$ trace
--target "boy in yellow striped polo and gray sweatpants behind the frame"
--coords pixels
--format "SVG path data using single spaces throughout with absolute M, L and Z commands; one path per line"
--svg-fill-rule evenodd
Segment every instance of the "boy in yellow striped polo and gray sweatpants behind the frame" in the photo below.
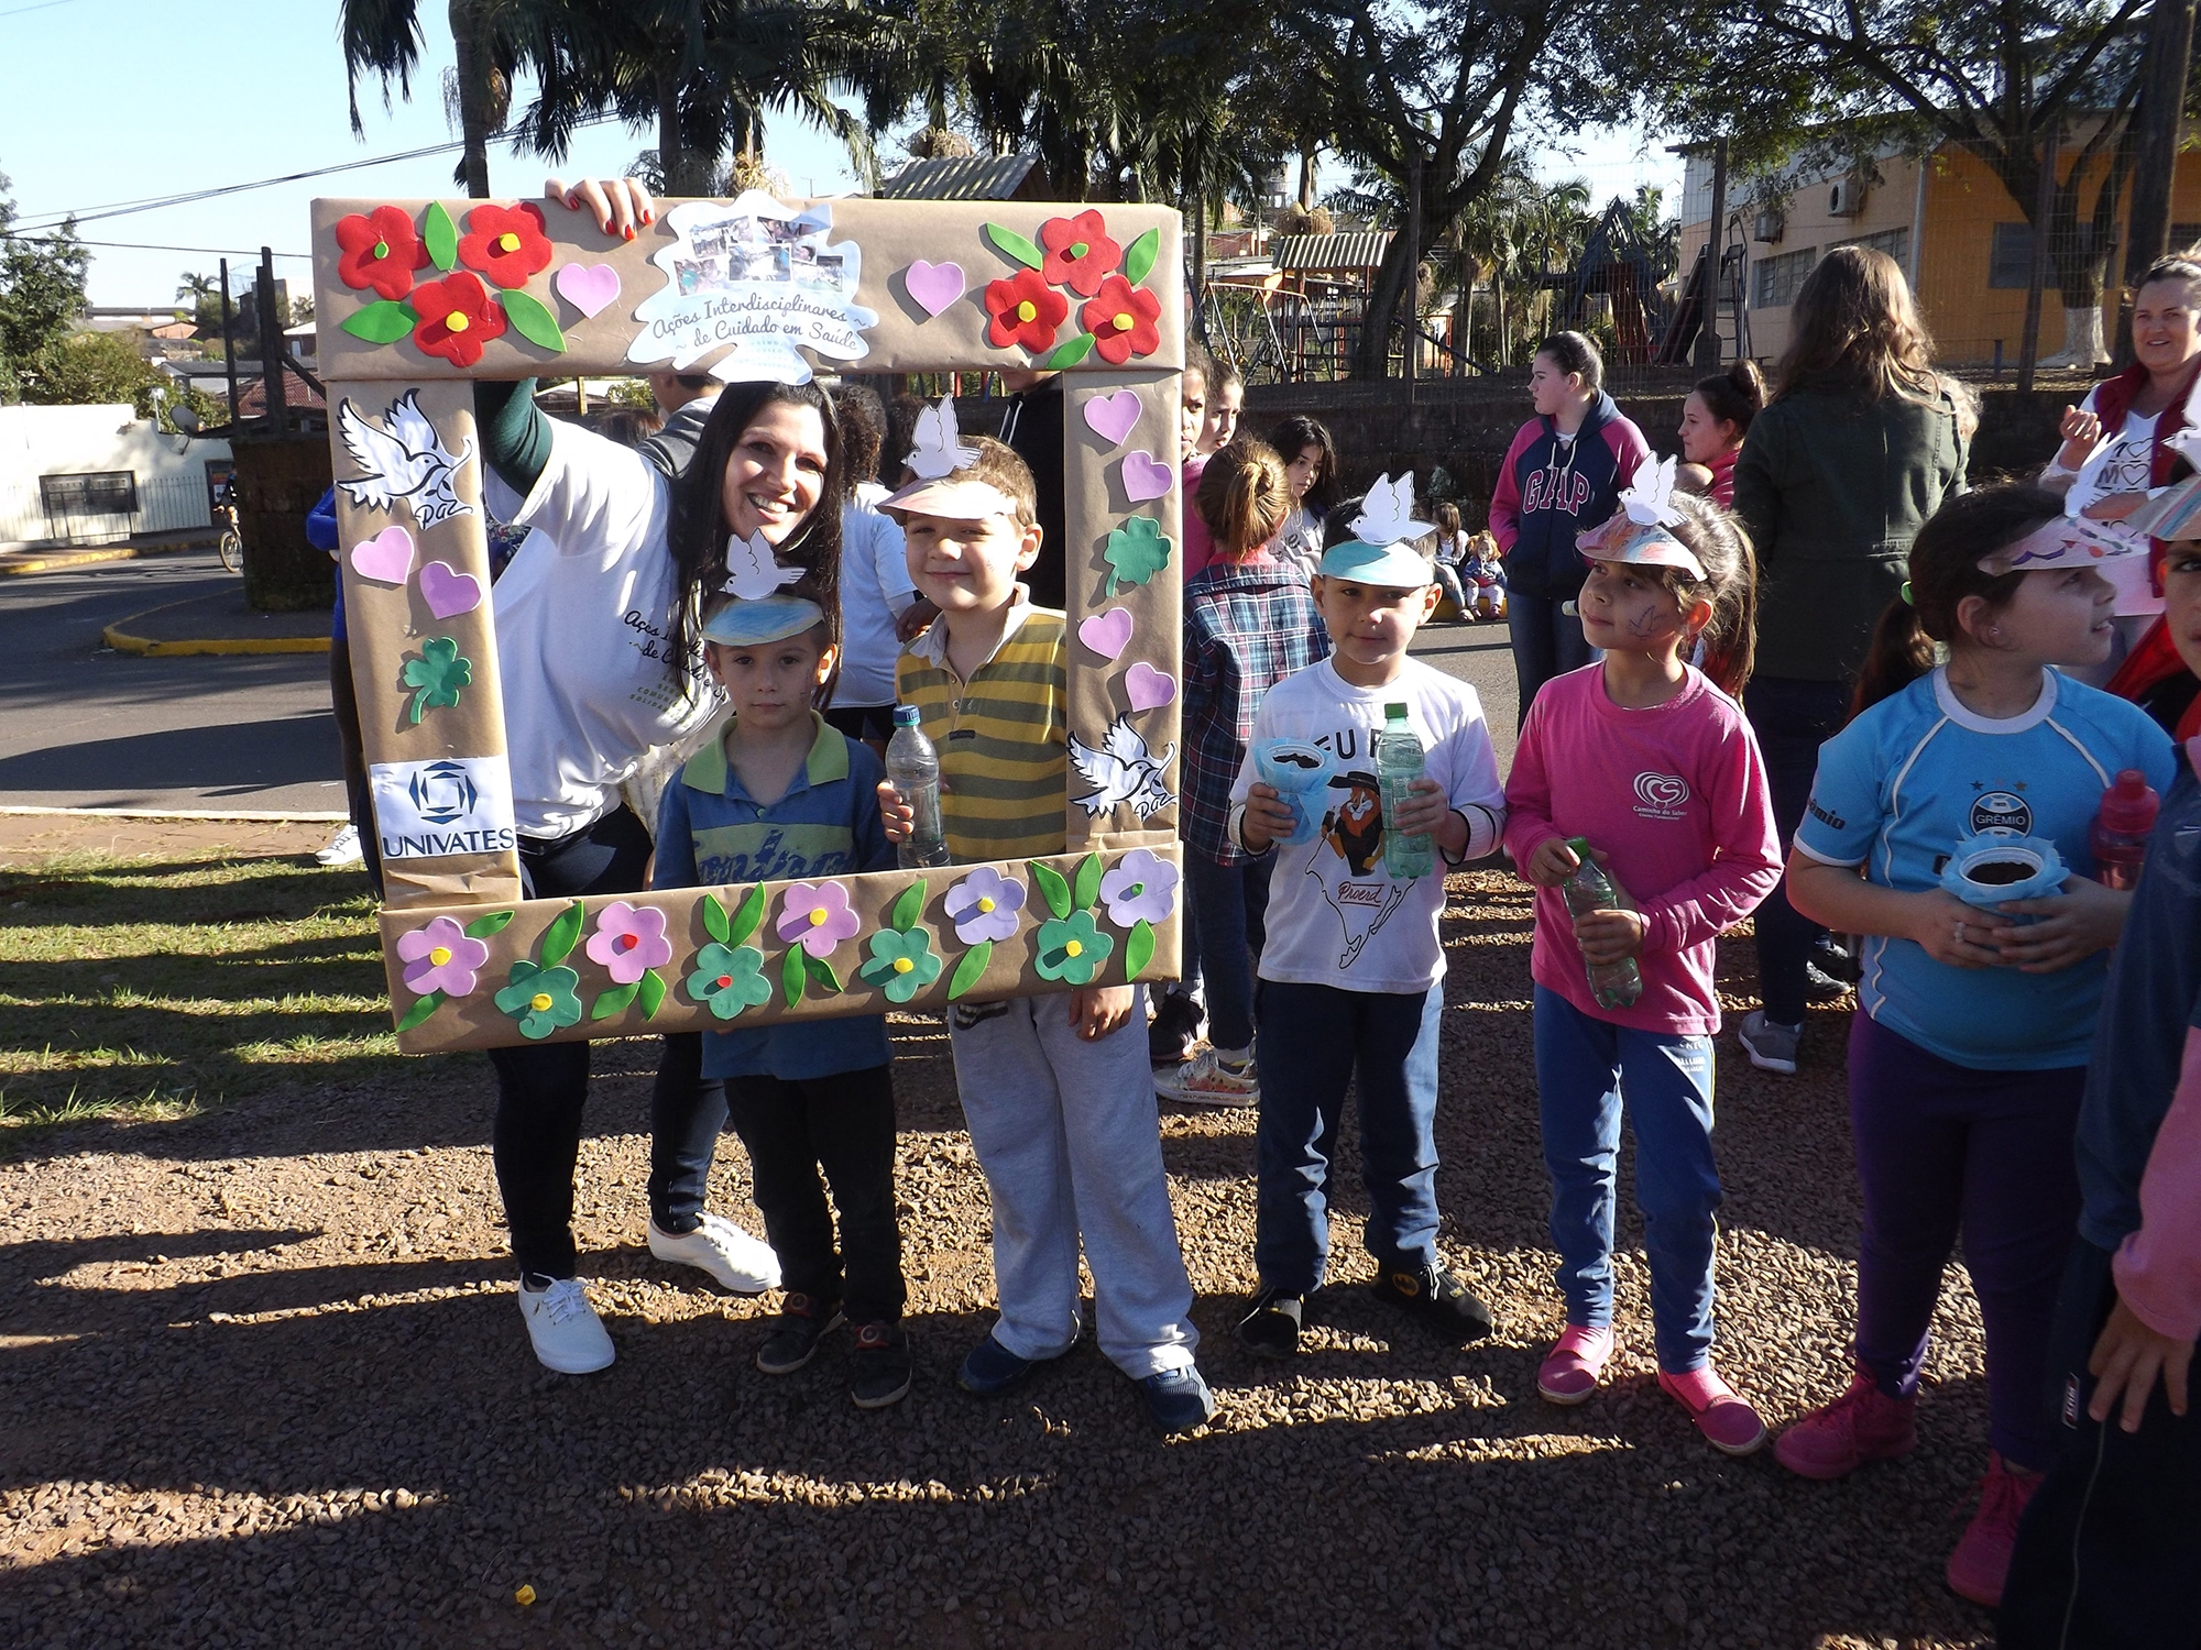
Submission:
M 1067 785 L 1063 616 L 1017 574 L 1039 557 L 1032 473 L 977 440 L 955 469 L 880 504 L 900 519 L 909 576 L 940 618 L 902 653 L 896 686 L 940 752 L 940 821 L 962 862 L 1061 854 Z M 889 840 L 911 812 L 878 788 Z M 1215 1415 L 1193 1346 L 1193 1285 L 1162 1170 L 1138 986 L 949 1010 L 955 1087 L 993 1199 L 1001 1318 L 957 1384 L 1006 1393 L 1078 1338 L 1078 1241 L 1100 1351 L 1140 1384 L 1164 1432 Z

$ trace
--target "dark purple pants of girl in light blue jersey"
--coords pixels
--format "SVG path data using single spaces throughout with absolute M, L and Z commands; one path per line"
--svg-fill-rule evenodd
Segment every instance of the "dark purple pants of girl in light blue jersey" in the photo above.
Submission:
M 1858 1014 L 1849 1120 L 1864 1184 L 1858 1362 L 1910 1397 L 1941 1267 L 1963 1263 L 1988 1324 L 1988 1439 L 2012 1465 L 2056 1461 L 2045 1371 L 2056 1287 L 2078 1232 L 2071 1135 L 2087 1067 L 1976 1071 Z

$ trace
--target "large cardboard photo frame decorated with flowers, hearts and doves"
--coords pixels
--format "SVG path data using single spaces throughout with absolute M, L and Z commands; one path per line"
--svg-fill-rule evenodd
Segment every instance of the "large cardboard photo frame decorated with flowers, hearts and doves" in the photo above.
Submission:
M 557 202 L 317 200 L 313 249 L 383 957 L 405 1052 L 938 1010 L 1178 975 L 1175 211 L 748 194 L 660 202 L 627 242 Z M 1065 854 L 519 898 L 469 381 L 698 363 L 788 383 L 1065 374 Z M 1123 779 L 1129 766 L 1136 783 Z

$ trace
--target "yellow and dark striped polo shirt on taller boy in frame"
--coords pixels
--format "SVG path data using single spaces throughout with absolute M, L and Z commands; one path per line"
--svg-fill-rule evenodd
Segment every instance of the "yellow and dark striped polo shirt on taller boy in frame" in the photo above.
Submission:
M 968 682 L 938 620 L 896 664 L 896 697 L 940 752 L 940 823 L 964 865 L 1030 860 L 1065 845 L 1070 700 L 1063 616 L 1019 598 Z

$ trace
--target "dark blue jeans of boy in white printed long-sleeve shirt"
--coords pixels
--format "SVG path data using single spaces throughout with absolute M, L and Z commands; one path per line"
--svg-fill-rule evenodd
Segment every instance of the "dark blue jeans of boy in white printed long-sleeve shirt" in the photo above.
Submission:
M 1261 981 L 1261 1126 L 1252 1258 L 1261 1285 L 1312 1294 L 1329 1256 L 1329 1164 L 1347 1087 L 1360 1096 L 1369 1254 L 1437 1263 L 1437 1021 L 1444 986 L 1347 992 Z M 1358 1074 L 1358 1082 L 1356 1082 Z

